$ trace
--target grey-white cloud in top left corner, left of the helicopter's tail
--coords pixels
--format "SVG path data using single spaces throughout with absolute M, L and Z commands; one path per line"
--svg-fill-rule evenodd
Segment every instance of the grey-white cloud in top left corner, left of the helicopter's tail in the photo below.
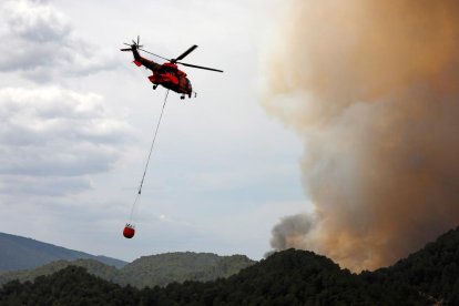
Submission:
M 43 1 L 0 4 L 0 71 L 35 82 L 88 75 L 116 65 L 114 51 L 75 38 L 70 20 Z

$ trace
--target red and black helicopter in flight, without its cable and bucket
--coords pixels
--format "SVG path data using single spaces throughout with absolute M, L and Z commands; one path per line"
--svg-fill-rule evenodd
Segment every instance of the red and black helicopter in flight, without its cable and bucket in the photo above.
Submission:
M 143 45 L 140 45 L 139 41 L 140 41 L 140 37 L 137 37 L 136 42 L 133 40 L 132 44 L 124 43 L 124 44 L 129 45 L 130 48 L 121 49 L 121 51 L 132 51 L 132 54 L 134 55 L 134 63 L 137 67 L 144 65 L 146 69 L 150 69 L 151 71 L 153 71 L 153 74 L 149 76 L 149 80 L 150 80 L 150 82 L 153 83 L 153 89 L 154 90 L 157 88 L 157 85 L 163 85 L 164 88 L 166 88 L 169 90 L 172 90 L 172 91 L 175 91 L 175 92 L 182 94 L 180 99 L 185 99 L 185 95 L 188 95 L 188 98 L 192 96 L 193 89 L 192 89 L 191 82 L 186 78 L 186 73 L 178 70 L 177 64 L 183 64 L 183 65 L 186 65 L 186 67 L 216 71 L 216 72 L 223 72 L 222 70 L 218 70 L 218 69 L 213 69 L 213 68 L 207 68 L 207 67 L 180 62 L 186 55 L 188 55 L 194 49 L 197 48 L 196 44 L 192 45 L 188 50 L 183 52 L 176 59 L 166 59 L 166 58 L 163 58 L 161 55 L 157 55 L 155 53 L 152 53 L 150 51 L 146 51 L 146 50 L 142 49 Z M 142 58 L 139 54 L 137 50 L 141 50 L 143 52 L 149 53 L 149 54 L 152 54 L 152 55 L 155 55 L 155 57 L 161 58 L 163 60 L 166 60 L 167 62 L 165 62 L 163 64 L 159 64 L 154 61 Z M 194 92 L 194 94 L 196 96 L 195 92 Z

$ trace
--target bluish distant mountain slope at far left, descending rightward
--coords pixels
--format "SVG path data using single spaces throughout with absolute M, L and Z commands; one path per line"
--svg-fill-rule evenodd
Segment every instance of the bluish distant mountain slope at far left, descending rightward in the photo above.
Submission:
M 110 266 L 123 267 L 126 262 L 42 243 L 32 238 L 0 233 L 0 272 L 30 269 L 50 262 L 91 258 Z

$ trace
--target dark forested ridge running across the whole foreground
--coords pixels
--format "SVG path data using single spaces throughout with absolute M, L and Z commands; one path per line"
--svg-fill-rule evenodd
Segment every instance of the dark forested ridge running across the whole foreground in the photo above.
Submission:
M 68 267 L 0 289 L 0 305 L 459 305 L 459 228 L 359 275 L 312 252 L 275 253 L 228 278 L 122 287 Z

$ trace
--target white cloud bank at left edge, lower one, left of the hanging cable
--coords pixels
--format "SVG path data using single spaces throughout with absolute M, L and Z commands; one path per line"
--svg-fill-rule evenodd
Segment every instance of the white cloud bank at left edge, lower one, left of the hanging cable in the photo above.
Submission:
M 84 175 L 110 171 L 131 133 L 101 96 L 57 86 L 0 89 L 0 119 L 1 190 L 23 181 L 39 194 L 88 188 Z

